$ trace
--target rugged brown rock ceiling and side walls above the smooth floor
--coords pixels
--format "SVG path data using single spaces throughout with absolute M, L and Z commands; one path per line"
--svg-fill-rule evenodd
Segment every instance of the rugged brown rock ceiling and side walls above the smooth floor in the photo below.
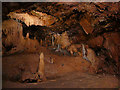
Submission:
M 48 44 L 51 43 L 49 32 L 59 33 L 62 38 L 55 41 L 55 44 L 59 44 L 63 49 L 74 44 L 86 44 L 93 50 L 94 55 L 102 58 L 103 71 L 107 72 L 104 66 L 108 66 L 107 68 L 114 66 L 118 70 L 115 69 L 110 73 L 119 73 L 120 2 L 41 2 L 21 6 L 22 9 L 21 4 L 17 3 L 15 5 L 18 5 L 18 8 L 13 11 L 9 9 L 9 3 L 3 4 L 3 7 L 6 5 L 8 10 L 4 11 L 2 24 L 3 53 L 17 52 L 25 42 L 35 44 L 36 41 L 26 40 L 22 36 L 22 33 L 27 32 L 22 28 L 33 27 L 28 32 L 43 46 L 45 44 L 49 46 Z M 33 30 L 35 27 L 37 30 Z M 36 46 L 32 45 L 32 47 Z M 71 54 L 77 51 L 77 49 L 68 50 Z

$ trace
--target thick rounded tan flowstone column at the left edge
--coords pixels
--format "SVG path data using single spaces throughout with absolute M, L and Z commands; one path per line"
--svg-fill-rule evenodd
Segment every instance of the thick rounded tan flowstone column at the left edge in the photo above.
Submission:
M 4 21 L 2 23 L 2 36 L 3 54 L 5 52 L 15 53 L 23 48 L 24 37 L 22 36 L 21 23 L 12 19 Z M 7 48 L 9 49 L 7 50 Z

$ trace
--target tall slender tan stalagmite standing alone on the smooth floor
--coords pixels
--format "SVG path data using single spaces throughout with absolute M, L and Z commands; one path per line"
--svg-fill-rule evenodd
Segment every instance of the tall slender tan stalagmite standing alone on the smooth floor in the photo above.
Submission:
M 45 64 L 44 64 L 44 54 L 40 54 L 40 61 L 39 61 L 39 66 L 38 66 L 38 75 L 40 76 L 40 79 L 43 81 L 46 80 L 45 77 Z

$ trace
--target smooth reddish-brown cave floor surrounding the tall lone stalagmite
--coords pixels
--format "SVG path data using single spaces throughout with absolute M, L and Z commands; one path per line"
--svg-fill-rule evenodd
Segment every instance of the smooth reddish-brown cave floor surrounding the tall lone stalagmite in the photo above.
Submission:
M 3 88 L 117 88 L 118 78 L 109 74 L 90 74 L 90 63 L 81 57 L 54 54 L 45 47 L 40 49 L 45 56 L 47 81 L 20 83 L 15 81 L 25 72 L 35 73 L 39 53 L 21 53 L 2 58 Z M 50 63 L 50 58 L 54 63 Z M 28 76 L 29 77 L 29 76 Z

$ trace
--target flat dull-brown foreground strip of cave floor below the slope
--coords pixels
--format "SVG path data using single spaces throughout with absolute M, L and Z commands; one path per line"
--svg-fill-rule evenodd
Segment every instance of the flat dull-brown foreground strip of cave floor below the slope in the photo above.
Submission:
M 19 83 L 5 81 L 3 88 L 117 88 L 115 77 L 107 75 L 89 75 L 71 72 L 64 76 L 40 83 Z

